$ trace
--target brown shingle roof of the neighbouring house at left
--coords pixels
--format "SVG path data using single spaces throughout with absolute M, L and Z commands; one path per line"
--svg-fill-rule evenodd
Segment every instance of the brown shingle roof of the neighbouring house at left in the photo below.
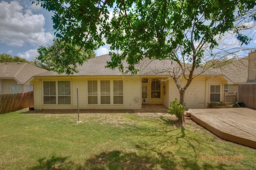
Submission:
M 48 72 L 26 62 L 0 62 L 0 78 L 14 78 L 19 84 L 24 84 L 32 76 Z

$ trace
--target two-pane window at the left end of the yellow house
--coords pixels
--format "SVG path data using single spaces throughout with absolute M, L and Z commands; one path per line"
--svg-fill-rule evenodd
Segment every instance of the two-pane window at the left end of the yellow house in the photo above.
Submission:
M 44 81 L 43 86 L 44 104 L 71 104 L 70 81 L 57 81 L 57 86 L 56 81 Z

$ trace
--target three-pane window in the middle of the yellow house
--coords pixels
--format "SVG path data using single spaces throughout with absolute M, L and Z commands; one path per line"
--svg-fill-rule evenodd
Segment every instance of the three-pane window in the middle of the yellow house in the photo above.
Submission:
M 123 80 L 88 80 L 88 104 L 123 103 Z

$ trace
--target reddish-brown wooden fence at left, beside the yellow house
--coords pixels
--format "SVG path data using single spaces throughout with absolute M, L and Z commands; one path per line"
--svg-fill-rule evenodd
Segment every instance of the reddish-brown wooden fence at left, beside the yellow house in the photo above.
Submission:
M 0 94 L 0 114 L 34 106 L 34 93 Z

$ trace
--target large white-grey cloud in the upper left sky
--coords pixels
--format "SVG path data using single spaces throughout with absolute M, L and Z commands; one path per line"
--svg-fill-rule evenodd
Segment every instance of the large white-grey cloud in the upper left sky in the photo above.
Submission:
M 17 1 L 0 2 L 0 43 L 21 47 L 25 43 L 46 44 L 54 35 L 45 32 L 45 18 L 42 14 L 32 14 Z

